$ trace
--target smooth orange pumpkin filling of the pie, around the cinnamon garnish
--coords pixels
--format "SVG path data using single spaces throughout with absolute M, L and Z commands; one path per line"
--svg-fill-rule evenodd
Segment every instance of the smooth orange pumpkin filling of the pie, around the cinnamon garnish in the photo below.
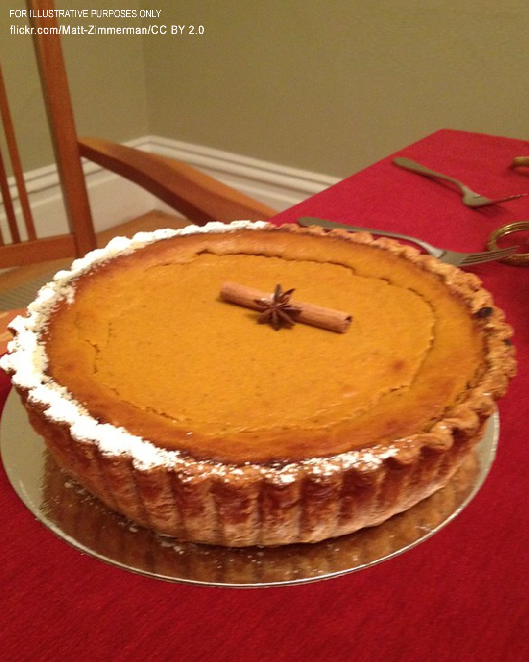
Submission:
M 263 254 L 262 234 L 257 254 L 224 237 L 206 250 L 180 238 L 156 263 L 145 250 L 101 267 L 50 324 L 52 377 L 99 420 L 235 463 L 387 443 L 428 430 L 462 397 L 483 339 L 433 276 L 414 278 L 384 251 L 382 275 L 371 273 L 362 257 L 372 249 L 361 244 L 342 257 L 310 246 Z M 222 301 L 224 281 L 295 287 L 296 298 L 350 312 L 352 323 L 344 334 L 275 331 Z

